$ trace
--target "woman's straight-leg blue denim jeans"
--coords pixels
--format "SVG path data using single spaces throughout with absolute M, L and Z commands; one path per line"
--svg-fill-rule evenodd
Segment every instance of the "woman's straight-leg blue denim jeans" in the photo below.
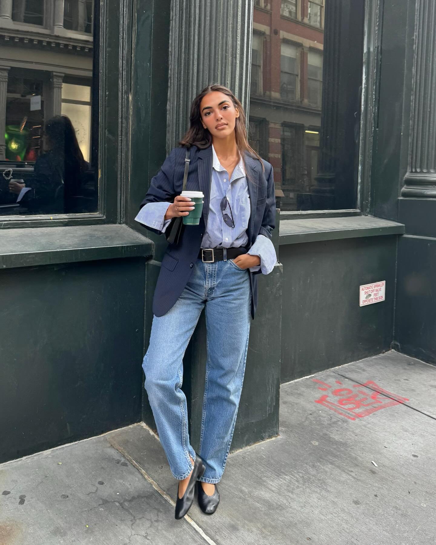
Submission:
M 153 316 L 142 368 L 159 439 L 175 479 L 189 476 L 196 453 L 189 442 L 183 355 L 205 307 L 207 366 L 199 455 L 200 481 L 220 482 L 233 438 L 250 334 L 248 270 L 232 260 L 197 259 L 179 299 L 164 316 Z

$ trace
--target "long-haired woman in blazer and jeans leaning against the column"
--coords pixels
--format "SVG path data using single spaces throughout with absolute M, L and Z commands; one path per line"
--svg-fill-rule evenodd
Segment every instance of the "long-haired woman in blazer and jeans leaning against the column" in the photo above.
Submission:
M 198 226 L 184 226 L 162 259 L 153 299 L 145 387 L 169 467 L 179 481 L 175 518 L 198 502 L 207 514 L 219 503 L 243 385 L 257 274 L 276 263 L 272 167 L 249 146 L 246 119 L 233 93 L 212 84 L 192 102 L 190 128 L 152 179 L 136 220 L 155 233 L 193 209 L 181 197 L 186 148 L 187 187 L 203 191 Z M 183 355 L 205 308 L 208 360 L 199 453 L 189 443 Z

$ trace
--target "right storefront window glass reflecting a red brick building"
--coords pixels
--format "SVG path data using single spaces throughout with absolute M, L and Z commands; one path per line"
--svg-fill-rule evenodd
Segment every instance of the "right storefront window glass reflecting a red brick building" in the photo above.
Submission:
M 249 137 L 274 168 L 277 207 L 355 208 L 365 2 L 281 0 L 271 10 L 268 26 L 253 9 Z

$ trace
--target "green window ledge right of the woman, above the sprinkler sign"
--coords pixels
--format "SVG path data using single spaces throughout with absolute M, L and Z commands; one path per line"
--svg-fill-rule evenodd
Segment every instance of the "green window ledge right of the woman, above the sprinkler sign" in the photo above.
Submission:
M 373 216 L 324 217 L 281 220 L 279 244 L 299 244 L 321 240 L 401 235 L 402 223 Z

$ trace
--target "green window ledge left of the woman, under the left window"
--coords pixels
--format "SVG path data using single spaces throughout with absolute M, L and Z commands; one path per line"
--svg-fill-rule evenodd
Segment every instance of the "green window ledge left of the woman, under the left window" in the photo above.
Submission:
M 0 269 L 119 257 L 151 257 L 153 242 L 125 225 L 2 231 Z

